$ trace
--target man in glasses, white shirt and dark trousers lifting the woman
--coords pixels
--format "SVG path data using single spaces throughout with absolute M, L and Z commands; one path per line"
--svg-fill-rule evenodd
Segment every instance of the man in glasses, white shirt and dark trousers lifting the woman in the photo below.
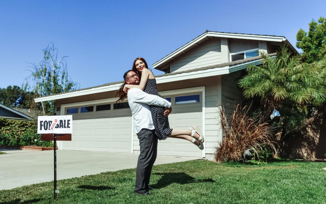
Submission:
M 126 71 L 124 79 L 127 84 L 139 85 L 140 83 L 138 75 L 131 70 Z M 171 103 L 158 96 L 147 94 L 139 88 L 129 89 L 127 96 L 140 145 L 134 192 L 149 195 L 148 190 L 152 188 L 148 184 L 157 155 L 157 136 L 149 105 L 166 107 L 164 116 L 168 116 L 172 110 Z

